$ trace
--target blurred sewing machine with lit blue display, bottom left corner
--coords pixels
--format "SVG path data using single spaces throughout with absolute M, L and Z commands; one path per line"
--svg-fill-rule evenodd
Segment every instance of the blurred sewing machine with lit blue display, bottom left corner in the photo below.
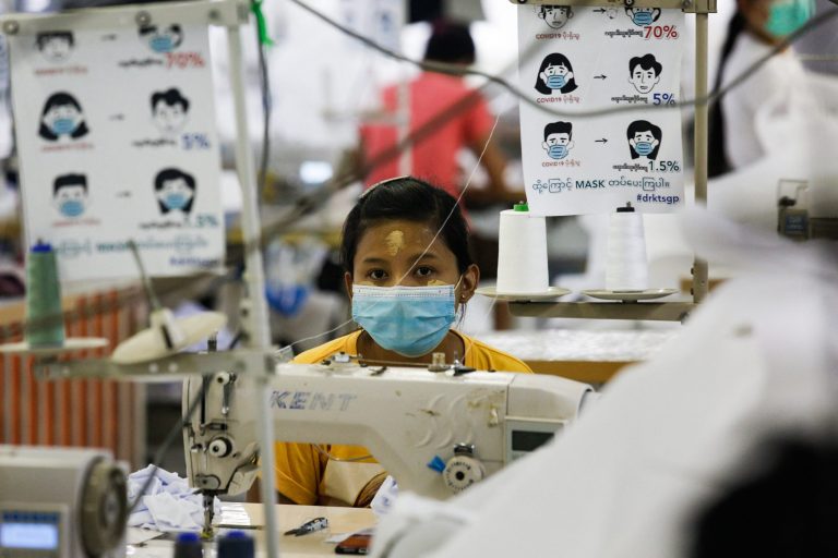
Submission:
M 125 556 L 125 473 L 109 452 L 0 446 L 0 556 Z

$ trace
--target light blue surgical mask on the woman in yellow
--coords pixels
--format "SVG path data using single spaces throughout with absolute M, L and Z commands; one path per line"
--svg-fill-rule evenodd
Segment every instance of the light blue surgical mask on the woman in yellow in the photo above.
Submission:
M 439 345 L 454 323 L 454 286 L 352 286 L 352 319 L 382 349 L 408 357 Z

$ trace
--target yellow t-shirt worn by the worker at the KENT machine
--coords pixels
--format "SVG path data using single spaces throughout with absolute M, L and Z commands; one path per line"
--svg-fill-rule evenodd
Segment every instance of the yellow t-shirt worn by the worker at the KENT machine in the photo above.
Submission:
M 532 373 L 518 359 L 486 343 L 454 331 L 466 347 L 465 365 L 479 371 Z M 340 337 L 298 355 L 294 362 L 314 364 L 337 352 L 357 354 L 361 330 Z M 323 445 L 320 447 L 335 458 L 358 459 L 369 456 L 361 446 Z M 364 505 L 371 481 L 383 480 L 384 469 L 371 457 L 358 461 L 335 461 L 318 451 L 312 444 L 276 442 L 276 489 L 301 505 L 354 506 Z M 359 501 L 359 496 L 363 495 Z

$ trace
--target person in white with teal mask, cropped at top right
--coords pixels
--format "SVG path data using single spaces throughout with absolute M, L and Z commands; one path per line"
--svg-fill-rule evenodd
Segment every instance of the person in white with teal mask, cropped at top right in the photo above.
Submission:
M 762 59 L 814 14 L 814 0 L 737 0 L 728 26 L 715 88 L 725 87 Z M 757 135 L 757 111 L 767 101 L 782 102 L 794 87 L 804 87 L 804 70 L 786 50 L 767 61 L 742 85 L 710 108 L 709 177 L 756 162 L 765 156 Z

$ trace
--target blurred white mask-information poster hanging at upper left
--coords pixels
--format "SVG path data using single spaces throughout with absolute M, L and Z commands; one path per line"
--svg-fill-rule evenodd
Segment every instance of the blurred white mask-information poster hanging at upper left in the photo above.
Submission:
M 64 281 L 224 263 L 207 29 L 160 23 L 9 36 L 26 241 Z

